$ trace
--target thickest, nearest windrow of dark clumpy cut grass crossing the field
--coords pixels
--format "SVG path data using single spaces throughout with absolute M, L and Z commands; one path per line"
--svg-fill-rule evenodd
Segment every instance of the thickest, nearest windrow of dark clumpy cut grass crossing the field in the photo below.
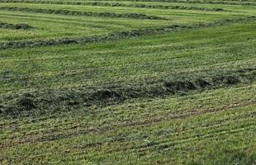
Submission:
M 29 92 L 0 99 L 0 114 L 17 117 L 24 114 L 65 111 L 79 106 L 107 106 L 134 98 L 165 97 L 180 92 L 229 87 L 239 82 L 255 82 L 255 80 L 256 68 L 252 68 L 244 72 L 237 70 L 234 73 L 221 73 L 209 78 L 166 79 L 145 85 Z

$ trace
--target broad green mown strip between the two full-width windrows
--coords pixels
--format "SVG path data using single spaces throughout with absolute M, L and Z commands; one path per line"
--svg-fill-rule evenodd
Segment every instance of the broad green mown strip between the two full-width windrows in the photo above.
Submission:
M 2 50 L 0 91 L 19 91 L 24 87 L 29 91 L 29 88 L 44 88 L 42 85 L 92 87 L 92 84 L 131 80 L 145 82 L 142 79 L 161 79 L 175 74 L 186 77 L 200 71 L 209 74 L 215 70 L 224 72 L 227 68 L 255 68 L 254 27 L 254 22 L 237 23 L 149 35 L 129 43 L 126 39 L 89 45 Z M 225 28 L 230 29 L 229 35 Z M 13 81 L 15 78 L 19 78 L 18 81 Z

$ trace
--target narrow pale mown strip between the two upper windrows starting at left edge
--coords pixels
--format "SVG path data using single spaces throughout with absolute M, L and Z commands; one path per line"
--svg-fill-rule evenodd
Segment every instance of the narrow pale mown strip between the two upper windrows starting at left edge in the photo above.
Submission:
M 133 4 L 133 3 L 124 3 L 124 4 Z M 75 12 L 114 12 L 116 14 L 125 14 L 125 13 L 137 13 L 137 14 L 145 14 L 149 16 L 159 16 L 167 19 L 173 19 L 173 15 L 199 15 L 204 16 L 220 16 L 219 18 L 223 18 L 223 16 L 243 16 L 244 13 L 236 13 L 236 12 L 215 12 L 215 11 L 190 11 L 190 10 L 162 10 L 158 8 L 137 8 L 137 7 L 104 7 L 104 6 L 81 6 L 81 5 L 58 5 L 58 4 L 40 4 L 40 3 L 0 3 L 0 7 L 17 7 L 17 8 L 31 8 L 31 9 L 50 9 L 50 10 L 67 10 L 67 11 L 75 11 Z

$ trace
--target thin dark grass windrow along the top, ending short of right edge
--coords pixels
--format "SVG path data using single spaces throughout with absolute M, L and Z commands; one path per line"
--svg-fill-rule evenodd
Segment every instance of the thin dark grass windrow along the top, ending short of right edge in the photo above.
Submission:
M 158 8 L 158 9 L 175 9 L 175 10 L 228 12 L 225 9 L 220 8 L 220 7 L 218 7 L 218 8 L 185 7 L 185 6 L 148 5 L 148 4 L 126 4 L 126 3 L 119 3 L 119 2 L 64 2 L 64 1 L 29 1 L 29 0 L 4 0 L 2 2 L 65 4 L 65 5 L 84 5 L 84 6 L 101 6 L 101 7 L 138 7 L 138 8 Z

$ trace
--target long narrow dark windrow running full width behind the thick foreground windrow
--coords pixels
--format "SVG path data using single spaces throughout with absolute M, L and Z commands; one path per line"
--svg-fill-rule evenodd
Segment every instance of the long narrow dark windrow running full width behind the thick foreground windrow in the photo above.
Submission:
M 80 37 L 80 38 L 59 38 L 59 39 L 53 39 L 53 40 L 12 41 L 12 42 L 0 44 L 0 50 L 5 50 L 9 48 L 25 48 L 25 47 L 49 46 L 49 45 L 86 44 L 86 43 L 101 42 L 101 41 L 107 41 L 107 40 L 120 40 L 125 38 L 143 36 L 143 35 L 163 34 L 169 31 L 183 31 L 183 30 L 192 29 L 192 28 L 221 26 L 221 25 L 230 24 L 230 23 L 247 22 L 247 21 L 255 21 L 255 20 L 256 20 L 256 16 L 249 16 L 249 17 L 238 18 L 234 20 L 226 19 L 221 21 L 213 21 L 209 23 L 199 23 L 191 26 L 173 25 L 173 26 L 163 26 L 163 27 L 157 27 L 157 28 L 133 30 L 133 31 L 120 31 L 120 32 L 113 32 L 109 35 L 94 35 L 94 36 L 86 36 L 86 37 Z

